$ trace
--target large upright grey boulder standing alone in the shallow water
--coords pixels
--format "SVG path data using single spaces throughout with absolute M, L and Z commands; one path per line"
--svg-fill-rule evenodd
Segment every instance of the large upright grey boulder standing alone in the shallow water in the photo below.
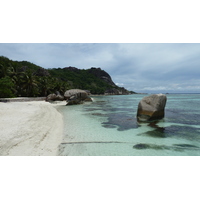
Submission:
M 153 94 L 144 97 L 138 104 L 137 120 L 148 122 L 162 119 L 165 116 L 167 97 L 164 94 Z

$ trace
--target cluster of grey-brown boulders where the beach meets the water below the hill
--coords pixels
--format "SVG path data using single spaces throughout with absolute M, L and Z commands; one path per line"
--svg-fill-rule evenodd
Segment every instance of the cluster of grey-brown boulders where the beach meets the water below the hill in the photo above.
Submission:
M 46 97 L 46 101 L 63 101 L 63 100 L 67 101 L 67 105 L 76 105 L 86 101 L 92 101 L 91 97 L 89 97 L 88 91 L 80 89 L 67 90 L 64 93 L 64 96 L 62 96 L 60 92 L 56 92 L 55 94 L 50 94 Z

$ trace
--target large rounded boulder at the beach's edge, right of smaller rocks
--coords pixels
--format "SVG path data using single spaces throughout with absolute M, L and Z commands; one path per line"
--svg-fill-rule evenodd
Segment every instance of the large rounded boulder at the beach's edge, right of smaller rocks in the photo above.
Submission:
M 81 104 L 84 101 L 92 101 L 88 96 L 88 93 L 80 89 L 67 90 L 64 97 L 67 100 L 67 105 L 76 105 Z

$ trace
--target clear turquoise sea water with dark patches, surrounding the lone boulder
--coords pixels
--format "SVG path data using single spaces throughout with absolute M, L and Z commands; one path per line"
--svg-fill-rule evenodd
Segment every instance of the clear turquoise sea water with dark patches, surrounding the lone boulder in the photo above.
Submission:
M 200 94 L 169 94 L 165 118 L 138 123 L 147 95 L 95 96 L 94 102 L 61 106 L 63 156 L 199 156 Z

